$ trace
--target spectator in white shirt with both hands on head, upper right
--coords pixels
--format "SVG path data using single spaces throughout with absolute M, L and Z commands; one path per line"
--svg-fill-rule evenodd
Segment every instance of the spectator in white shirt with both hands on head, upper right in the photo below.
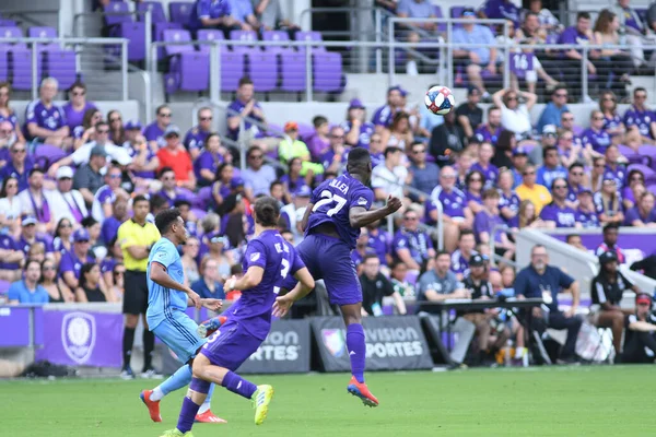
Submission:
M 519 104 L 519 97 L 526 99 L 526 104 Z M 492 96 L 494 105 L 501 108 L 501 126 L 505 130 L 515 132 L 519 145 L 530 139 L 530 109 L 538 102 L 538 96 L 516 90 L 500 90 Z

